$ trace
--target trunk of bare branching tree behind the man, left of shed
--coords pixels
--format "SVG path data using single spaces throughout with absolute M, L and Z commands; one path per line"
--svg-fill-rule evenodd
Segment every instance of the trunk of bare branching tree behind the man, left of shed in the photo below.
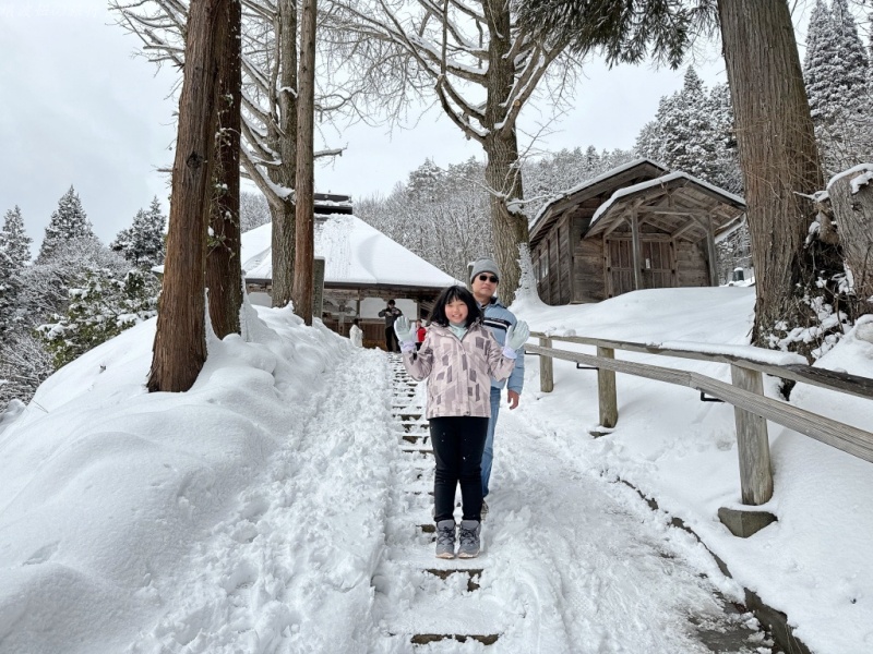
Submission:
M 487 0 L 483 9 L 489 27 L 485 124 L 491 128 L 482 144 L 488 156 L 485 174 L 491 192 L 491 229 L 494 257 L 501 272 L 500 296 L 503 303 L 511 304 L 522 276 L 518 246 L 529 240 L 527 218 L 517 202 L 524 194 L 515 123 L 503 125 L 509 109 L 506 99 L 515 83 L 514 62 L 505 56 L 512 50 L 511 14 L 505 0 Z

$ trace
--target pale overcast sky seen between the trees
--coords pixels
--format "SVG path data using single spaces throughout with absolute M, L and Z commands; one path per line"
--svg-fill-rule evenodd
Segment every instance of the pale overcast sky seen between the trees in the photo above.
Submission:
M 113 25 L 104 0 L 0 0 L 0 217 L 19 205 L 35 249 L 71 184 L 107 243 L 153 196 L 168 208 L 167 175 L 157 169 L 172 162 L 177 107 L 168 96 L 176 71 L 156 72 L 133 57 L 137 47 Z M 720 59 L 697 68 L 707 85 L 725 80 Z M 574 109 L 551 125 L 557 132 L 539 149 L 630 147 L 683 74 L 591 63 Z M 534 132 L 549 114 L 545 102 L 531 107 L 522 126 Z M 327 145 L 348 149 L 319 168 L 316 190 L 356 198 L 390 192 L 426 157 L 439 166 L 482 158 L 436 109 L 393 134 L 356 126 L 328 135 Z

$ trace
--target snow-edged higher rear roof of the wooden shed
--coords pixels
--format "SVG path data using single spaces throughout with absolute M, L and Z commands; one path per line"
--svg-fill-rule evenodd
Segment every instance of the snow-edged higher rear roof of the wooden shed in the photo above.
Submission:
M 651 159 L 634 159 L 627 164 L 611 168 L 595 178 L 583 181 L 576 186 L 555 195 L 542 205 L 530 226 L 530 244 L 535 245 L 549 231 L 551 226 L 567 209 L 577 207 L 586 201 L 606 199 L 615 190 L 653 180 L 669 172 L 669 169 Z M 602 199 L 600 199 L 602 202 Z M 597 204 L 595 204 L 597 206 Z

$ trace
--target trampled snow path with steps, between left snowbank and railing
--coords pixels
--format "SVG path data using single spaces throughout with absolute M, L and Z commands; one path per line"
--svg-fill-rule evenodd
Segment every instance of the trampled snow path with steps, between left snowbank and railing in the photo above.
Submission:
M 381 352 L 333 363 L 268 471 L 141 591 L 160 617 L 125 652 L 769 652 L 690 535 L 523 408 L 501 414 L 482 554 L 436 559 L 423 385 Z

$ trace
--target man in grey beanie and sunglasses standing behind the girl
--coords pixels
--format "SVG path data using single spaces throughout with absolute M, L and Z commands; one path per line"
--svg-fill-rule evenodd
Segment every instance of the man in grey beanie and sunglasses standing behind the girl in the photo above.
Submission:
M 506 342 L 506 330 L 510 325 L 515 325 L 517 318 L 509 308 L 503 306 L 497 299 L 498 284 L 500 283 L 500 268 L 494 261 L 480 258 L 473 264 L 470 271 L 470 290 L 476 301 L 485 313 L 486 327 L 491 329 L 491 334 L 498 342 L 503 346 Z M 518 350 L 518 358 L 515 360 L 515 367 L 506 382 L 491 380 L 491 419 L 488 421 L 488 436 L 485 441 L 485 452 L 482 453 L 482 497 L 488 495 L 488 482 L 491 479 L 491 462 L 494 460 L 494 427 L 498 423 L 500 413 L 500 391 L 506 386 L 510 409 L 518 405 L 522 396 L 522 388 L 525 383 L 525 353 L 524 347 Z M 488 505 L 482 502 L 482 519 L 488 512 Z

